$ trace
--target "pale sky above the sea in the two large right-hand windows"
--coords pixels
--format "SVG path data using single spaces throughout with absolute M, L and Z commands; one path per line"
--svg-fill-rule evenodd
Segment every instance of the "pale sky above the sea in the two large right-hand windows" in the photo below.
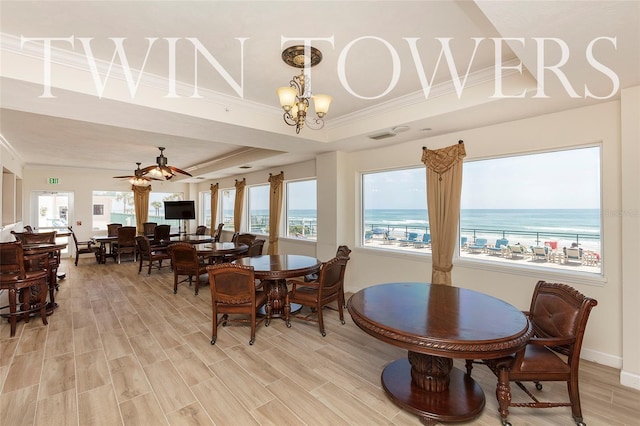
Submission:
M 600 208 L 600 148 L 466 161 L 463 209 Z M 424 167 L 364 176 L 365 209 L 424 209 Z

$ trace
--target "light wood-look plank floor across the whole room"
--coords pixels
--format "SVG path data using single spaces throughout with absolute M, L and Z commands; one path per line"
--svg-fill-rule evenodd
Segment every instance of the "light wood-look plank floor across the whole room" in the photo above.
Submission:
M 195 296 L 172 291 L 168 269 L 138 275 L 137 264 L 66 262 L 56 300 L 39 318 L 0 324 L 0 425 L 419 425 L 380 386 L 382 368 L 406 352 L 327 311 L 317 325 L 276 319 L 249 346 L 245 325 L 211 339 L 208 287 Z M 461 367 L 462 363 L 455 362 Z M 640 424 L 640 392 L 618 384 L 619 371 L 581 363 L 585 422 Z M 499 425 L 495 377 L 473 372 L 486 394 L 483 413 L 467 424 Z M 514 390 L 514 397 L 520 396 Z M 543 394 L 566 395 L 563 384 Z M 517 425 L 571 425 L 569 408 L 514 408 Z

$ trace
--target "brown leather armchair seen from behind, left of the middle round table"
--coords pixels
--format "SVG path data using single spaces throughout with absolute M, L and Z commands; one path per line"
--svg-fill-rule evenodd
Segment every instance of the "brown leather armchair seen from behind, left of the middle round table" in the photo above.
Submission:
M 213 320 L 211 344 L 216 343 L 220 323 L 225 326 L 228 322 L 249 322 L 251 324 L 249 344 L 253 345 L 256 340 L 256 325 L 263 321 L 262 319 L 256 321 L 258 309 L 267 305 L 265 308 L 266 318 L 269 318 L 270 312 L 266 293 L 256 291 L 253 267 L 235 263 L 220 263 L 207 266 L 207 273 L 209 274 Z M 219 319 L 218 314 L 222 314 Z M 230 314 L 234 314 L 234 318 L 229 318 Z M 244 318 L 238 318 L 235 315 L 243 315 Z M 267 324 L 268 321 L 267 319 Z

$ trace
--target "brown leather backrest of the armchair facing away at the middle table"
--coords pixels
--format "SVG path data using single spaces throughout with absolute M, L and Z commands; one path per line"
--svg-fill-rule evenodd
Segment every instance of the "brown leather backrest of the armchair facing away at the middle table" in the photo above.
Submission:
M 253 266 L 220 263 L 207 266 L 207 272 L 212 304 L 255 304 L 256 288 Z

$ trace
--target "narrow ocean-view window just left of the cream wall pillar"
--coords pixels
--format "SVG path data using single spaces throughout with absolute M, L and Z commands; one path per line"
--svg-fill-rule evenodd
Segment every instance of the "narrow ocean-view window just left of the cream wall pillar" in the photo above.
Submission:
M 317 184 L 315 180 L 288 182 L 287 236 L 315 240 L 318 231 Z

